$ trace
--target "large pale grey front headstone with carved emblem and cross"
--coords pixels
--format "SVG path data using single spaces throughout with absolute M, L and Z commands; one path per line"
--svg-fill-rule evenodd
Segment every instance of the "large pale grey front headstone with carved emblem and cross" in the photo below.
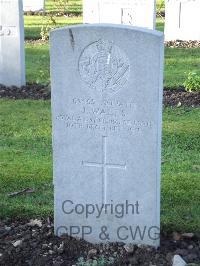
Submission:
M 158 246 L 163 34 L 93 24 L 50 41 L 56 235 Z

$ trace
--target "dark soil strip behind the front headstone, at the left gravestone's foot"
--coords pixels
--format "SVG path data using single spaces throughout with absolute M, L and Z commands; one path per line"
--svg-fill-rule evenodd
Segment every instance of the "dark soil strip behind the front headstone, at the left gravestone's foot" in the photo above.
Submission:
M 50 87 L 41 84 L 28 84 L 22 88 L 5 87 L 0 85 L 0 98 L 47 100 L 51 98 Z M 186 92 L 184 88 L 165 89 L 163 95 L 164 106 L 199 107 L 200 91 Z

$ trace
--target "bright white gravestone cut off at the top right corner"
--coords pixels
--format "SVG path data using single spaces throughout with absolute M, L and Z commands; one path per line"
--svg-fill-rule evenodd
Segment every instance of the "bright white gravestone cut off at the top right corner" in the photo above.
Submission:
M 165 1 L 165 40 L 200 40 L 200 0 Z

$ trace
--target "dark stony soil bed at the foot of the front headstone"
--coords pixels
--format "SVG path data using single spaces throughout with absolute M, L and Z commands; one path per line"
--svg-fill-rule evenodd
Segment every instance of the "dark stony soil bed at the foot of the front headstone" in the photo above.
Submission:
M 161 238 L 161 247 L 157 250 L 148 246 L 130 246 L 123 243 L 93 245 L 69 236 L 55 237 L 49 218 L 36 220 L 36 223 L 0 220 L 2 266 L 72 266 L 78 265 L 77 261 L 81 257 L 84 261 L 93 262 L 102 256 L 112 258 L 112 265 L 169 266 L 175 254 L 180 255 L 187 263 L 199 263 L 199 236 L 178 233 L 165 235 Z

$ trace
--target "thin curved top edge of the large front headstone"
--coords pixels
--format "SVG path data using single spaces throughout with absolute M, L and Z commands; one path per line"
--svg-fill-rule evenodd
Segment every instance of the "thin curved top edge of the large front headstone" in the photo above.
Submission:
M 73 30 L 73 29 L 92 29 L 92 28 L 102 28 L 102 29 L 109 29 L 109 28 L 115 28 L 115 29 L 123 29 L 123 30 L 130 30 L 130 31 L 135 31 L 135 32 L 142 32 L 142 33 L 146 33 L 149 35 L 153 35 L 153 36 L 157 36 L 160 37 L 161 39 L 164 38 L 164 33 L 157 31 L 157 30 L 151 30 L 151 29 L 145 29 L 142 27 L 134 27 L 134 26 L 128 26 L 128 25 L 120 25 L 120 24 L 110 24 L 110 23 L 95 23 L 95 24 L 78 24 L 78 25 L 73 25 L 73 26 L 66 26 L 66 27 L 61 27 L 61 28 L 57 28 L 54 30 L 50 31 L 50 37 L 54 34 L 54 33 L 58 33 L 61 31 L 66 31 L 66 30 Z

